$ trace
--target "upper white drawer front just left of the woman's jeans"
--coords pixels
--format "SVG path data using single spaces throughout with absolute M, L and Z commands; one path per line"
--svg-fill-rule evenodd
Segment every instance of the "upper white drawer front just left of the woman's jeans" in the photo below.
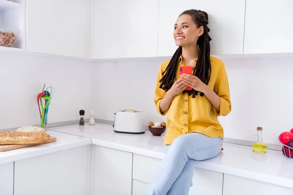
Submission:
M 133 154 L 132 178 L 150 184 L 161 159 Z

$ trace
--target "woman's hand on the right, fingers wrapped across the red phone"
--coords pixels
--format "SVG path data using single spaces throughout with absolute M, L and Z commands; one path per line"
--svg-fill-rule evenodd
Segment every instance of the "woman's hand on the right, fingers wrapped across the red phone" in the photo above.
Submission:
M 180 76 L 180 80 L 182 80 L 182 83 L 193 88 L 198 92 L 205 93 L 208 87 L 208 85 L 206 85 L 204 82 L 202 82 L 198 77 L 195 77 L 194 75 L 183 74 Z

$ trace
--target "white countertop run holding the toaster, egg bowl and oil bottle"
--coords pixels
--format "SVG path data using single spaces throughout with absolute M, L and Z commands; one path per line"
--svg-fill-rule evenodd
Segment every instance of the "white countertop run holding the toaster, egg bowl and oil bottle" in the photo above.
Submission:
M 164 134 L 161 137 L 155 137 L 149 131 L 141 135 L 115 133 L 112 125 L 103 123 L 96 123 L 94 126 L 88 123 L 84 126 L 67 125 L 51 129 L 89 137 L 95 145 L 160 159 L 165 156 L 163 153 Z M 209 160 L 196 161 L 194 166 L 293 188 L 293 159 L 283 156 L 282 152 L 268 150 L 267 154 L 254 154 L 251 147 L 230 143 L 224 143 L 223 148 L 224 150 L 218 156 Z

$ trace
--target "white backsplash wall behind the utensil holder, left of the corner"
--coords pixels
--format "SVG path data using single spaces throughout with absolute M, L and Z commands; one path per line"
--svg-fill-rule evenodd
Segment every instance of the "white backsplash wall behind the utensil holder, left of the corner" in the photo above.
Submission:
M 92 62 L 0 53 L 0 129 L 39 124 L 35 95 L 55 88 L 48 123 L 89 117 Z

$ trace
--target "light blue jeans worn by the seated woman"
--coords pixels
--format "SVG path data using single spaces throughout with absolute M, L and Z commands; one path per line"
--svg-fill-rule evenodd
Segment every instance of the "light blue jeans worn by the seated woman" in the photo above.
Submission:
M 188 195 L 192 186 L 195 160 L 217 156 L 222 149 L 221 137 L 189 133 L 164 146 L 165 158 L 156 170 L 147 195 Z

